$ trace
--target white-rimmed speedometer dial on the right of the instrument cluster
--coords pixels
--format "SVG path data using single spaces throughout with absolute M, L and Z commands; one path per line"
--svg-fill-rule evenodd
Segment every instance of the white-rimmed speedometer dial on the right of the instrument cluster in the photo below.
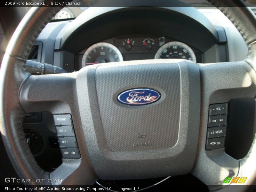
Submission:
M 196 55 L 187 44 L 172 41 L 158 49 L 155 59 L 187 59 L 196 62 Z

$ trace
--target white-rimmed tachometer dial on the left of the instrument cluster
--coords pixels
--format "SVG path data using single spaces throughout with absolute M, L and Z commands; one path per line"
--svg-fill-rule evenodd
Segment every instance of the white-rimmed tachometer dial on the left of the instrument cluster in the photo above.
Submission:
M 121 52 L 110 43 L 96 43 L 90 46 L 82 59 L 82 67 L 97 63 L 123 61 Z

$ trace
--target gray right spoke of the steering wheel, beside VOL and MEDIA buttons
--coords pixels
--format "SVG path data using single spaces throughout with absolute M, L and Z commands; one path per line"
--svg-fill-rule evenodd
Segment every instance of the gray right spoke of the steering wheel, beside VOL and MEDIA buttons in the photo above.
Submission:
M 228 185 L 223 183 L 226 177 L 236 177 L 238 175 L 240 163 L 239 160 L 225 153 L 225 148 L 223 148 L 225 137 L 223 135 L 220 134 L 221 137 L 209 135 L 211 132 L 207 129 L 221 130 L 217 131 L 217 134 L 222 132 L 226 123 L 223 122 L 224 126 L 221 126 L 222 122 L 218 123 L 218 120 L 222 121 L 223 118 L 228 116 L 225 115 L 225 111 L 216 112 L 216 110 L 221 111 L 220 108 L 215 109 L 211 114 L 209 106 L 211 104 L 228 103 L 231 99 L 254 98 L 256 95 L 256 73 L 245 61 L 200 65 L 201 121 L 196 163 L 192 174 L 203 181 L 210 190 L 215 190 Z M 223 113 L 224 115 L 219 115 Z M 213 127 L 215 124 L 216 127 Z M 218 144 L 220 144 L 220 147 L 218 147 Z M 236 141 L 234 140 L 234 147 L 235 145 Z

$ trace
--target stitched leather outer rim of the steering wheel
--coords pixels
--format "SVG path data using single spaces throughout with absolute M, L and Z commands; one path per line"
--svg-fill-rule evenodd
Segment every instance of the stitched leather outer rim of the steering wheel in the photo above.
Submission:
M 253 12 L 245 7 L 242 1 L 211 0 L 210 3 L 219 8 L 243 36 L 249 48 L 245 61 L 255 70 L 256 19 Z M 31 8 L 13 34 L 1 66 L 0 95 L 3 96 L 0 100 L 1 134 L 10 161 L 22 179 L 50 179 L 50 173 L 43 171 L 38 166 L 26 143 L 22 128 L 22 119 L 25 113 L 20 106 L 19 94 L 22 84 L 30 76 L 24 68 L 28 53 L 42 29 L 60 9 L 61 7 Z M 254 163 L 256 158 L 255 141 L 256 137 L 247 156 L 239 160 L 239 175 L 248 177 L 247 185 L 255 184 L 256 180 L 256 164 Z M 90 163 L 88 163 L 88 170 L 93 174 L 93 168 Z M 93 184 L 95 178 L 97 176 L 93 175 L 93 179 L 89 180 L 87 184 Z M 66 184 L 72 184 L 72 182 Z M 45 183 L 40 182 L 36 183 L 36 185 L 45 185 Z M 243 190 L 245 189 L 246 186 L 244 186 Z

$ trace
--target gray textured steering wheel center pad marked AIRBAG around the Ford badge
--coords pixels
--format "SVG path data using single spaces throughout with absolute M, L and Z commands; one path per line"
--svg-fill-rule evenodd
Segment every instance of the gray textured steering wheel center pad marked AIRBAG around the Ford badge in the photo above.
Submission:
M 77 76 L 78 100 L 90 103 L 79 104 L 81 116 L 92 117 L 92 124 L 84 122 L 85 139 L 102 179 L 163 177 L 192 169 L 200 117 L 199 69 L 187 60 L 157 62 L 99 64 Z M 117 101 L 120 93 L 138 87 L 161 98 L 142 106 Z M 84 108 L 90 108 L 90 115 Z

